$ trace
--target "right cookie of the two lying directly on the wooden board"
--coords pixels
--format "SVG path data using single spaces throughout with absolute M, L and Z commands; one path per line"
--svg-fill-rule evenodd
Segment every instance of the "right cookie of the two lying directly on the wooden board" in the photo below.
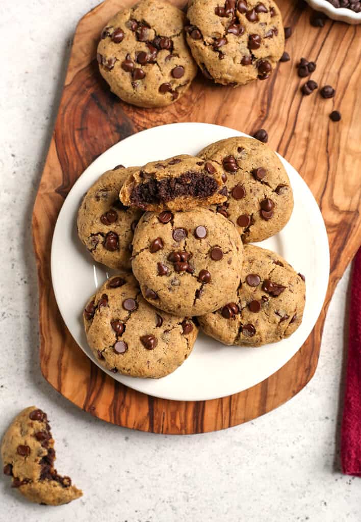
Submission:
M 273 0 L 190 0 L 187 42 L 204 76 L 223 85 L 269 78 L 285 46 Z

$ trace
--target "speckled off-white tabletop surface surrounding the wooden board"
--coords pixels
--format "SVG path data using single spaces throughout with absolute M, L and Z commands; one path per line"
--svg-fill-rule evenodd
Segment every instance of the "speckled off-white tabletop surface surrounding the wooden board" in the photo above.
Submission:
M 96 4 L 0 3 L 0 436 L 22 408 L 43 408 L 57 468 L 84 490 L 69 505 L 38 506 L 2 477 L 0 520 L 358 522 L 361 481 L 340 473 L 338 441 L 350 270 L 334 294 L 310 384 L 237 428 L 195 436 L 118 428 L 80 411 L 42 378 L 31 211 L 76 22 Z

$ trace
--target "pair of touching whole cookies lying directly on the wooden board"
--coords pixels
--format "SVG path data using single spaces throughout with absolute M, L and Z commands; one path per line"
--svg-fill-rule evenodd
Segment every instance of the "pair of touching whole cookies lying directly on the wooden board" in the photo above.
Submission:
M 101 32 L 97 60 L 112 92 L 141 107 L 173 103 L 197 74 L 239 86 L 269 78 L 284 51 L 273 0 L 190 0 L 187 17 L 160 0 L 142 0 Z

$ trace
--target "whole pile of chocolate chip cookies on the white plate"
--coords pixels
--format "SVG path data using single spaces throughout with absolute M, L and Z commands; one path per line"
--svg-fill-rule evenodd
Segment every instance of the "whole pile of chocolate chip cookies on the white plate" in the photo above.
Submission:
M 77 219 L 92 257 L 118 270 L 84 310 L 99 362 L 159 378 L 187 359 L 199 327 L 226 345 L 291 335 L 302 320 L 304 277 L 248 243 L 279 232 L 292 209 L 281 161 L 247 137 L 218 141 L 197 157 L 104 173 Z

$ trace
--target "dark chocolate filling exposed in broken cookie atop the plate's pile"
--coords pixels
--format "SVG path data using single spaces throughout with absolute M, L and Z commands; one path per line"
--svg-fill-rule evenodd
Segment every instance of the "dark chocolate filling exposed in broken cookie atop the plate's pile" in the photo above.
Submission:
M 155 180 L 150 178 L 133 188 L 131 203 L 137 207 L 147 204 L 166 203 L 180 196 L 205 198 L 218 188 L 217 181 L 203 172 L 185 172 L 179 177 Z

